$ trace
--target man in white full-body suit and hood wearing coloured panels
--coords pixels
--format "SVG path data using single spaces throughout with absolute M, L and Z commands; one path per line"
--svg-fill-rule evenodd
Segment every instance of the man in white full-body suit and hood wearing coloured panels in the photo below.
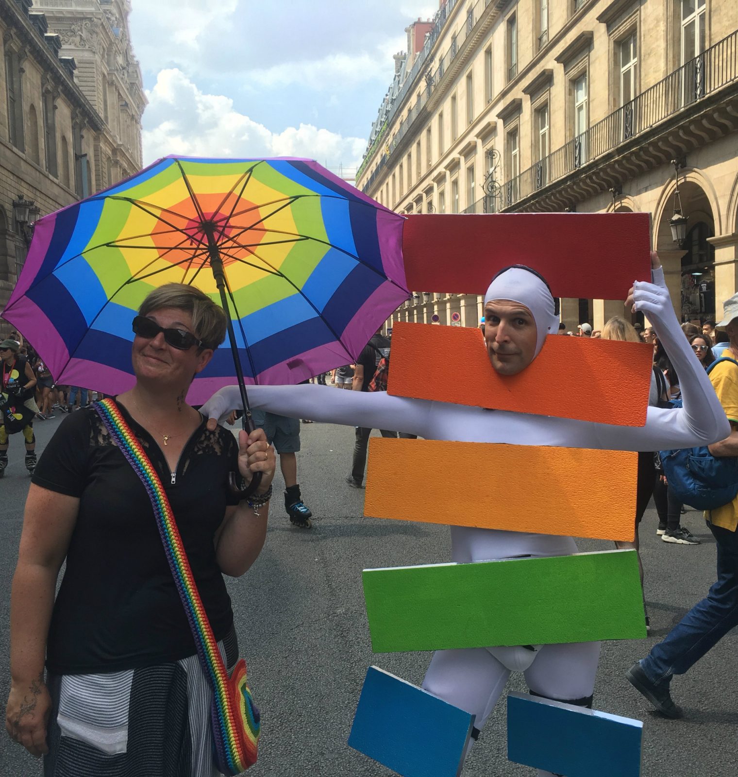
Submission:
M 334 392 L 339 395 L 328 398 L 325 389 L 315 385 L 249 387 L 250 402 L 273 413 L 393 429 L 431 440 L 653 451 L 722 439 L 729 432 L 729 424 L 705 370 L 694 359 L 679 329 L 656 254 L 652 255 L 652 266 L 652 282 L 636 281 L 625 304 L 628 310 L 644 312 L 656 327 L 679 369 L 684 406 L 668 410 L 649 407 L 642 427 L 503 410 L 489 412 L 482 407 L 409 399 L 385 392 Z M 556 308 L 548 284 L 529 267 L 507 267 L 493 278 L 485 294 L 484 347 L 498 375 L 518 375 L 538 357 L 546 337 L 559 329 Z M 238 389 L 228 387 L 211 397 L 202 412 L 211 416 L 208 423 L 214 429 L 218 418 L 239 406 Z M 494 509 L 495 504 L 490 503 L 489 510 Z M 541 515 L 541 528 L 545 528 L 545 515 Z M 451 526 L 450 530 L 454 563 L 577 552 L 571 537 L 470 526 Z M 473 740 L 492 713 L 511 671 L 524 671 L 528 688 L 536 695 L 591 706 L 599 653 L 599 643 L 438 650 L 430 661 L 423 688 L 475 715 Z M 538 771 L 538 777 L 550 774 Z

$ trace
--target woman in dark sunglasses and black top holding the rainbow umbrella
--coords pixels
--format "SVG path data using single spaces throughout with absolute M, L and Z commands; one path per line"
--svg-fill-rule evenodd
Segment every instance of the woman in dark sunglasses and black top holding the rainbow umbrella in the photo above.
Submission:
M 273 449 L 238 442 L 186 402 L 223 342 L 225 313 L 190 286 L 148 294 L 133 320 L 135 383 L 113 399 L 165 490 L 228 671 L 238 657 L 224 575 L 266 536 Z M 230 473 L 256 493 L 242 498 Z M 54 597 L 61 564 L 64 579 Z M 212 691 L 147 490 L 95 406 L 64 417 L 41 455 L 12 584 L 6 728 L 54 777 L 211 777 Z M 44 658 L 46 677 L 44 679 Z M 169 773 L 169 772 L 166 772 Z

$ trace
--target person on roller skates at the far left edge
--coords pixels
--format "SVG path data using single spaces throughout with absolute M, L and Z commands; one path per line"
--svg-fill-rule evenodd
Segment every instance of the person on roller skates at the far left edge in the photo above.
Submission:
M 3 340 L 0 343 L 0 395 L 2 402 L 16 402 L 23 404 L 30 410 L 30 418 L 23 426 L 23 438 L 26 441 L 26 469 L 30 475 L 36 469 L 36 436 L 33 434 L 33 416 L 38 413 L 36 400 L 33 399 L 36 387 L 36 375 L 28 363 L 26 357 L 19 354 L 20 343 L 17 340 Z M 5 474 L 8 466 L 9 432 L 0 415 L 0 477 Z

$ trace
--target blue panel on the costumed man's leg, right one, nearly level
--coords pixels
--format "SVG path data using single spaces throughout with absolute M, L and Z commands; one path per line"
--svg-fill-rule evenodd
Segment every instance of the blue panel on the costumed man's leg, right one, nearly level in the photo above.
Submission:
M 643 723 L 511 692 L 507 758 L 566 777 L 639 777 Z

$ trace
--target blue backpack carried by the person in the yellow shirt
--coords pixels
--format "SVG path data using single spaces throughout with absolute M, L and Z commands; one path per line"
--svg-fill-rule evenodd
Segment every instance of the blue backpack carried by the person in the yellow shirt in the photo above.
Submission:
M 708 367 L 708 375 L 721 361 L 732 361 L 738 367 L 738 361 L 734 359 L 716 359 Z M 659 455 L 669 488 L 680 502 L 696 510 L 715 510 L 738 496 L 738 458 L 735 456 L 715 458 L 706 445 L 659 451 Z

